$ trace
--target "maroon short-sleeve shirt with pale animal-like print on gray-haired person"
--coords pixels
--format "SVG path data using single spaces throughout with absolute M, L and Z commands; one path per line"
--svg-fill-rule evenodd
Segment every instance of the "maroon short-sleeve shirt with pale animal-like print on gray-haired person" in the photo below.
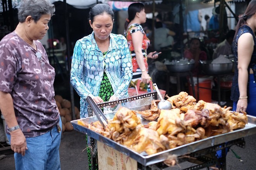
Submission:
M 59 122 L 55 70 L 41 42 L 35 43 L 37 51 L 15 32 L 0 41 L 0 90 L 11 94 L 16 119 L 26 137 L 47 133 Z

